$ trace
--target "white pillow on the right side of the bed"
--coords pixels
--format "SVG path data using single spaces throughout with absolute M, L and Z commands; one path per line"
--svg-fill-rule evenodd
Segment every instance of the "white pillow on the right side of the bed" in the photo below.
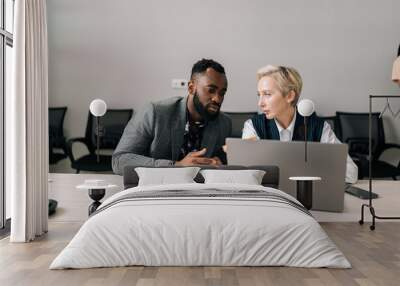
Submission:
M 205 184 L 226 183 L 261 185 L 265 171 L 261 170 L 202 170 Z

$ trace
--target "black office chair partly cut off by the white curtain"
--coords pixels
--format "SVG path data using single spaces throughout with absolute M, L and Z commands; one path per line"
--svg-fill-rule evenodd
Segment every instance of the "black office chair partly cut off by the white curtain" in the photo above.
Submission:
M 67 158 L 67 142 L 64 137 L 64 118 L 67 107 L 49 107 L 49 164 Z M 58 150 L 61 149 L 61 153 Z

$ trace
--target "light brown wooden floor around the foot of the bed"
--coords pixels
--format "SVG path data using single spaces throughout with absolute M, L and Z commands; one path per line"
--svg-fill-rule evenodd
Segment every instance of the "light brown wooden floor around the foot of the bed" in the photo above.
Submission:
M 48 270 L 81 223 L 51 222 L 32 243 L 0 241 L 0 285 L 400 285 L 400 224 L 322 223 L 353 268 L 121 267 Z

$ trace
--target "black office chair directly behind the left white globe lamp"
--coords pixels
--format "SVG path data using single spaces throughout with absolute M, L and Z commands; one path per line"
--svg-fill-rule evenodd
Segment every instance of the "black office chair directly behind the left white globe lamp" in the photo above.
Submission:
M 125 126 L 128 124 L 133 114 L 133 109 L 109 109 L 104 116 L 100 117 L 100 148 L 114 150 Z M 86 125 L 85 137 L 72 138 L 68 140 L 68 156 L 71 159 L 71 167 L 76 170 L 78 174 L 82 171 L 91 172 L 108 172 L 112 171 L 111 155 L 100 155 L 99 162 L 97 162 L 97 132 L 96 132 L 95 117 L 89 112 L 88 121 Z M 72 146 L 76 142 L 81 142 L 86 145 L 89 154 L 75 159 L 72 151 Z

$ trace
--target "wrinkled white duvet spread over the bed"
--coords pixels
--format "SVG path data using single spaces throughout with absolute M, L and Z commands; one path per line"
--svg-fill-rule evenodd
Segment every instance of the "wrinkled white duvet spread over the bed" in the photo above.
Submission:
M 262 190 L 231 184 L 135 187 L 107 199 L 56 257 L 50 269 L 146 266 L 294 266 L 350 268 L 311 216 L 288 204 L 255 198 L 122 201 L 131 192 Z

